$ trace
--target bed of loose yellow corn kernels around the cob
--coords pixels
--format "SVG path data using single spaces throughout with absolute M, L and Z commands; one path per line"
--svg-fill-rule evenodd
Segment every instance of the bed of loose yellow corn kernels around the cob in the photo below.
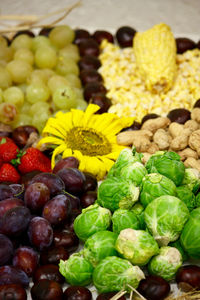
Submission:
M 133 48 L 121 49 L 104 40 L 101 44 L 98 70 L 111 99 L 110 113 L 135 117 L 141 121 L 148 113 L 166 116 L 174 108 L 191 110 L 200 98 L 200 50 L 178 54 L 177 75 L 173 87 L 166 93 L 146 89 L 137 70 Z

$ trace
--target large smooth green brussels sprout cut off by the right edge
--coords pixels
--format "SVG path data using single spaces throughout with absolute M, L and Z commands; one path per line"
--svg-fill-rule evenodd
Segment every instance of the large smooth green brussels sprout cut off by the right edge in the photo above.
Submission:
M 200 259 L 200 207 L 190 213 L 180 237 L 184 251 L 192 258 Z

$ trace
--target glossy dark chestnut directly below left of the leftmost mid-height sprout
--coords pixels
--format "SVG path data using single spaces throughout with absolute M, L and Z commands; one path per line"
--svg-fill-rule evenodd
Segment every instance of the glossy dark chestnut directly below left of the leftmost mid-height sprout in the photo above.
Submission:
M 74 232 L 54 231 L 53 244 L 55 247 L 62 246 L 71 252 L 77 250 L 79 239 Z

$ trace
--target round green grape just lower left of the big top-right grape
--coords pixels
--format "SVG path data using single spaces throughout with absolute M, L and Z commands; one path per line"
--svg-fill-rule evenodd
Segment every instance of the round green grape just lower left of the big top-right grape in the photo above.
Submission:
M 53 69 L 57 62 L 56 51 L 51 47 L 39 47 L 35 52 L 35 64 L 38 68 Z

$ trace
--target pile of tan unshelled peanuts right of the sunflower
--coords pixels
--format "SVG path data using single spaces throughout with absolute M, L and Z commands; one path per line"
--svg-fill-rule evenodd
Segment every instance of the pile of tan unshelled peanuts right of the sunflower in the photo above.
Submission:
M 143 163 L 156 151 L 177 152 L 186 167 L 200 171 L 200 108 L 193 108 L 191 120 L 185 124 L 171 122 L 167 117 L 149 119 L 140 130 L 124 131 L 118 144 L 135 146 L 143 153 Z

